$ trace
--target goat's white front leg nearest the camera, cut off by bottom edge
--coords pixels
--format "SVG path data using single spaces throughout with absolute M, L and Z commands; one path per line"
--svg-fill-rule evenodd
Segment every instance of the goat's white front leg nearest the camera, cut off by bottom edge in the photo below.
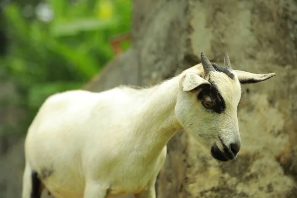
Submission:
M 109 188 L 106 188 L 96 182 L 87 182 L 84 198 L 106 198 Z

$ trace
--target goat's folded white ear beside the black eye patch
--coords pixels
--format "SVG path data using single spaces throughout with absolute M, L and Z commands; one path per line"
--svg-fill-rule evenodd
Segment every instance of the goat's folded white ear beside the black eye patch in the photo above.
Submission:
M 184 92 L 192 91 L 198 88 L 201 85 L 206 85 L 209 88 L 211 87 L 210 83 L 203 78 L 201 78 L 198 74 L 194 72 L 186 73 L 182 80 L 180 81 L 181 87 Z

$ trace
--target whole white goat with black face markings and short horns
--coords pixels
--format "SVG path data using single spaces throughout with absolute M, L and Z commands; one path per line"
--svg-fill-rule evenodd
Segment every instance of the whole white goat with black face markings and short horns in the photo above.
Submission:
M 234 159 L 241 140 L 237 107 L 241 84 L 275 73 L 252 74 L 201 63 L 150 88 L 101 93 L 68 91 L 45 101 L 25 141 L 22 198 L 155 198 L 166 144 L 185 129 L 211 155 Z

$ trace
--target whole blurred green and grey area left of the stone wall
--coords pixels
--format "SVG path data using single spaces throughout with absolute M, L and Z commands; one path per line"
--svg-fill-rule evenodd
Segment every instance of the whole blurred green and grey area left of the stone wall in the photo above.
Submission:
M 116 40 L 130 33 L 131 9 L 132 0 L 0 0 L 0 156 L 26 135 L 47 97 L 80 89 L 129 48 Z M 22 152 L 9 156 L 22 161 Z M 19 198 L 20 178 L 5 169 L 15 160 L 2 161 L 0 198 Z

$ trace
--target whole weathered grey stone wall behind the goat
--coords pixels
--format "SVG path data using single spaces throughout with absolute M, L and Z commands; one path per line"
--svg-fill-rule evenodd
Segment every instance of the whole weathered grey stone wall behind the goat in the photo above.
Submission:
M 228 51 L 233 68 L 277 74 L 242 86 L 237 160 L 218 162 L 184 131 L 171 139 L 158 198 L 297 198 L 296 1 L 134 0 L 132 34 L 132 48 L 85 89 L 151 85 L 196 64 L 201 51 L 219 64 Z M 0 159 L 10 170 L 0 174 L 5 198 L 19 197 L 22 148 Z

